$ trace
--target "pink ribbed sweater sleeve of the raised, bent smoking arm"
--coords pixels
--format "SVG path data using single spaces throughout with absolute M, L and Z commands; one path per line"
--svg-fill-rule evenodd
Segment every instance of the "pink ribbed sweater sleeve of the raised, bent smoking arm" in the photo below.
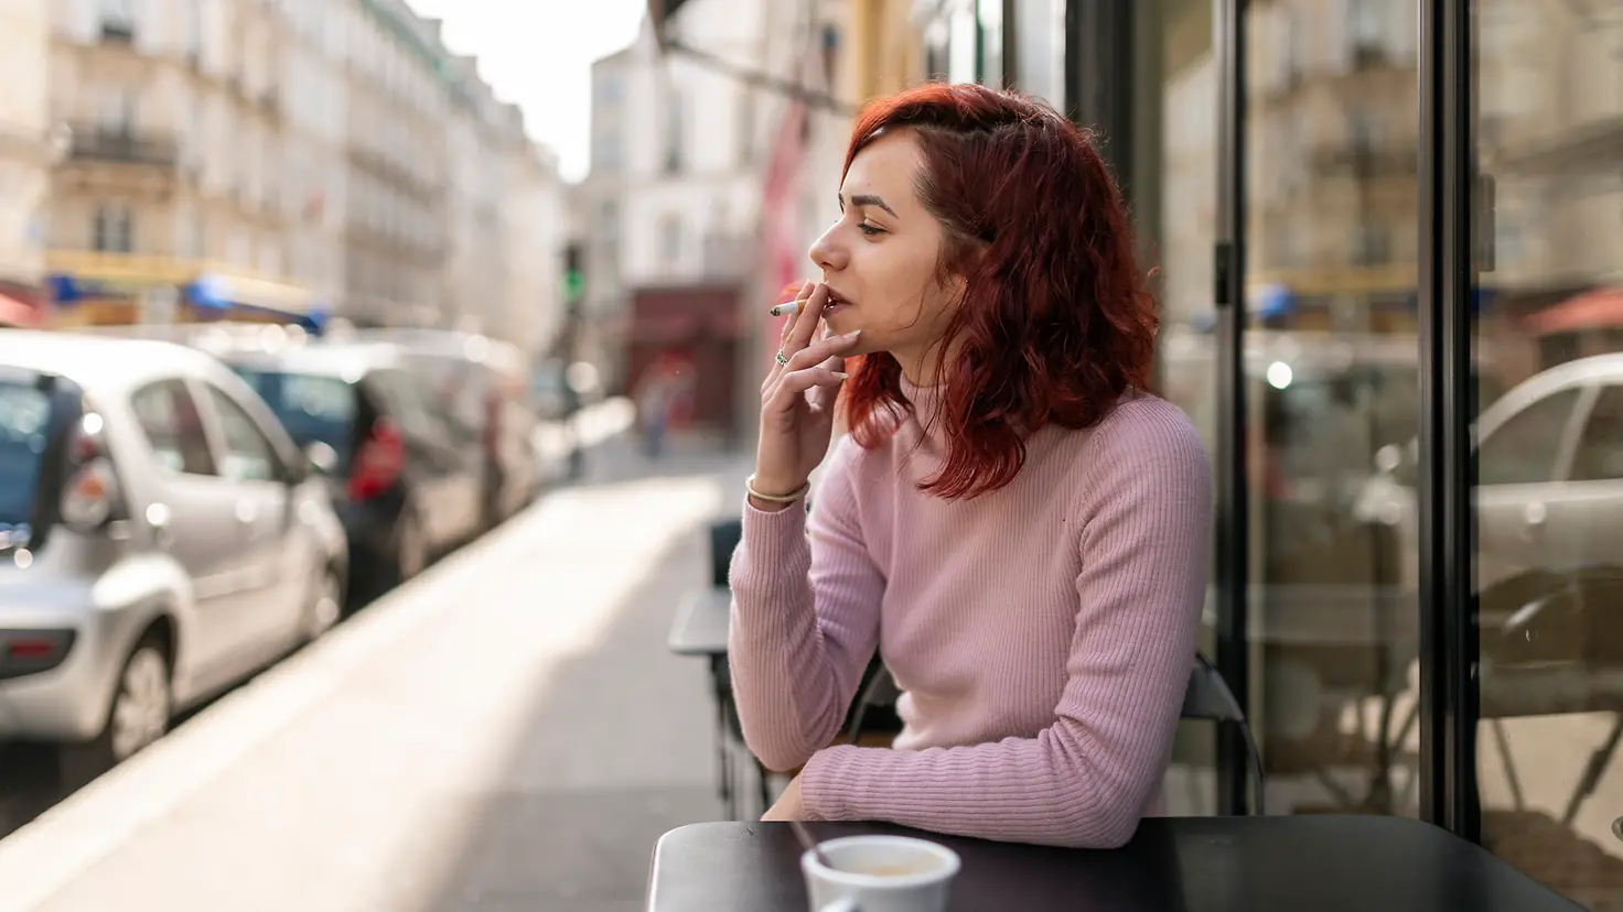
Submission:
M 862 539 L 855 451 L 836 443 L 810 519 L 743 503 L 727 660 L 743 740 L 768 769 L 802 766 L 834 738 L 878 644 L 885 578 Z

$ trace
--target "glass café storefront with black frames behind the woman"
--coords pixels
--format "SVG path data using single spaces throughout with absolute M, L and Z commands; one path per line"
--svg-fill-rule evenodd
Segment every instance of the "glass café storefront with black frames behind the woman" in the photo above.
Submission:
M 1096 127 L 1154 252 L 1160 391 L 1217 466 L 1204 647 L 1269 811 L 1417 815 L 1623 899 L 1618 5 L 966 0 L 920 28 L 932 75 Z M 1245 807 L 1242 745 L 1183 742 L 1169 798 Z

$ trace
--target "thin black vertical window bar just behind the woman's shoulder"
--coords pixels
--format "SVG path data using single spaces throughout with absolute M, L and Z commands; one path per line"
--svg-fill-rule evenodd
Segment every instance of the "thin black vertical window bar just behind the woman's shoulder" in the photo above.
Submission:
M 1245 459 L 1245 0 L 1216 0 L 1217 115 L 1217 649 L 1216 665 L 1240 706 L 1251 706 L 1250 536 Z M 1225 420 L 1227 419 L 1227 420 Z M 1217 730 L 1217 813 L 1246 810 L 1246 750 Z

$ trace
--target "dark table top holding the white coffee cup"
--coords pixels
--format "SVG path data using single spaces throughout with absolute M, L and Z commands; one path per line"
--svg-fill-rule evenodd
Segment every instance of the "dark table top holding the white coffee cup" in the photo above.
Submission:
M 1115 852 L 812 826 L 820 839 L 896 832 L 951 847 L 964 862 L 954 912 L 1581 912 L 1482 847 L 1406 818 L 1151 818 Z M 649 912 L 807 906 L 789 824 L 696 823 L 654 850 Z

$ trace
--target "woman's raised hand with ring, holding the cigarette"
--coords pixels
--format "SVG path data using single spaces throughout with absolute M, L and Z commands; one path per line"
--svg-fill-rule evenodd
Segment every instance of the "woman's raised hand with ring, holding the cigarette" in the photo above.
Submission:
M 789 495 L 800 490 L 828 454 L 834 432 L 834 399 L 846 380 L 844 355 L 857 333 L 815 339 L 828 305 L 828 287 L 802 286 L 800 313 L 784 328 L 784 344 L 773 372 L 761 383 L 761 441 L 755 451 L 755 490 Z M 860 329 L 859 329 L 860 333 Z M 787 362 L 787 364 L 784 364 Z M 750 498 L 758 510 L 784 503 Z

